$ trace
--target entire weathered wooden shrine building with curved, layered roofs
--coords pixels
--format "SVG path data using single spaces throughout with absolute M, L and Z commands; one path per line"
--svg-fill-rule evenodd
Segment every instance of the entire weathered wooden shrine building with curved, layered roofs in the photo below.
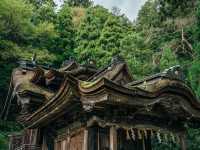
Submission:
M 1 118 L 24 126 L 10 135 L 10 150 L 151 150 L 152 139 L 186 150 L 200 103 L 179 66 L 135 80 L 118 57 L 101 69 L 21 61 Z

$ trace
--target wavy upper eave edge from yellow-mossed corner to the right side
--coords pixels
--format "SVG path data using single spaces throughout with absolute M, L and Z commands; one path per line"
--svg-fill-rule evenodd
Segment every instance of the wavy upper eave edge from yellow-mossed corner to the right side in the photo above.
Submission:
M 160 78 L 160 81 L 165 83 L 165 85 L 163 85 L 162 87 L 160 87 L 159 89 L 153 92 L 144 90 L 140 88 L 139 85 L 135 87 L 120 86 L 119 84 L 116 84 L 106 78 L 102 78 L 95 82 L 79 81 L 79 89 L 80 89 L 81 95 L 88 95 L 88 96 L 96 95 L 100 93 L 99 91 L 102 91 L 103 89 L 103 91 L 107 90 L 107 91 L 110 91 L 110 93 L 113 92 L 113 93 L 123 94 L 126 96 L 139 96 L 142 98 L 150 99 L 149 102 L 147 102 L 146 104 L 144 103 L 144 101 L 143 102 L 136 101 L 136 103 L 141 104 L 141 105 L 150 105 L 151 101 L 154 101 L 153 98 L 159 97 L 160 95 L 164 93 L 171 92 L 172 94 L 183 96 L 184 98 L 189 100 L 190 103 L 194 105 L 194 107 L 197 107 L 197 109 L 200 109 L 200 104 L 197 102 L 195 95 L 186 84 L 178 80 L 171 80 L 167 77 L 165 79 Z M 148 84 L 148 82 L 146 84 Z

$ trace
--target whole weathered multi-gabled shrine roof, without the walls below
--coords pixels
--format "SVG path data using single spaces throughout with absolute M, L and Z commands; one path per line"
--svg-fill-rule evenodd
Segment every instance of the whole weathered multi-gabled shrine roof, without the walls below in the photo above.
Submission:
M 31 65 L 16 69 L 12 76 L 12 92 L 18 94 L 19 101 L 26 98 L 44 101 L 23 118 L 22 123 L 29 128 L 43 127 L 65 115 L 73 119 L 81 114 L 87 118 L 94 115 L 89 112 L 101 112 L 108 117 L 110 108 L 114 110 L 109 113 L 124 117 L 134 114 L 147 120 L 200 123 L 200 103 L 184 82 L 179 66 L 133 81 L 127 64 L 118 59 L 99 72 L 95 66 L 79 65 L 75 61 L 66 62 L 61 69 Z M 122 110 L 118 112 L 118 108 Z

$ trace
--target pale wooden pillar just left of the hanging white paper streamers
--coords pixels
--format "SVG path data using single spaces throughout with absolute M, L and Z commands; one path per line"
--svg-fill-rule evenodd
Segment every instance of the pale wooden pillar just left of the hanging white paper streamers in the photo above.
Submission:
M 117 150 L 117 130 L 110 127 L 110 150 Z

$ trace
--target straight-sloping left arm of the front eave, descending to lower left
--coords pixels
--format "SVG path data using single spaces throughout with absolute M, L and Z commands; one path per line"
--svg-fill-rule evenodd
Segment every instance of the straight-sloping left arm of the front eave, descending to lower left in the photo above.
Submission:
M 24 123 L 30 128 L 44 126 L 61 116 L 63 113 L 70 111 L 71 105 L 78 101 L 76 86 L 77 83 L 73 77 L 66 77 L 58 93 L 48 103 L 30 115 Z

